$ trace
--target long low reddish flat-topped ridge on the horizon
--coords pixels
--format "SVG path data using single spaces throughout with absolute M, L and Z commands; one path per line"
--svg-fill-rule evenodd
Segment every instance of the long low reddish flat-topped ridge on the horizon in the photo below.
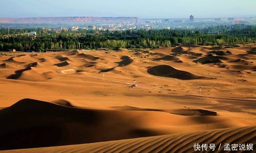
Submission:
M 0 18 L 0 23 L 86 23 L 136 21 L 137 17 L 40 17 L 40 18 Z

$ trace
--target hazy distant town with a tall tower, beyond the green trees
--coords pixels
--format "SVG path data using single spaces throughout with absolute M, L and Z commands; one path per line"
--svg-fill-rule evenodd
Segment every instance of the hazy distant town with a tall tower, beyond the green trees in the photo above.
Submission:
M 95 23 L 87 26 L 72 26 L 58 28 L 44 28 L 44 30 L 54 31 L 56 33 L 63 31 L 77 31 L 78 29 L 85 30 L 100 30 L 100 31 L 122 31 L 134 29 L 195 29 L 204 28 L 208 25 L 221 24 L 256 24 L 256 16 L 250 18 L 210 18 L 210 19 L 194 19 L 190 15 L 188 19 L 140 19 L 136 21 L 122 20 L 111 24 Z

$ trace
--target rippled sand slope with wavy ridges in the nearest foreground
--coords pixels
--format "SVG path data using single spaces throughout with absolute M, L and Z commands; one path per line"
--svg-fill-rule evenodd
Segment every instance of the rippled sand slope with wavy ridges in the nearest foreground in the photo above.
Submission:
M 154 137 L 107 141 L 100 143 L 18 149 L 2 151 L 2 153 L 194 153 L 196 152 L 194 150 L 195 143 L 198 143 L 199 145 L 202 145 L 203 143 L 207 144 L 208 149 L 207 151 L 204 151 L 206 153 L 231 152 L 224 151 L 224 144 L 230 144 L 230 146 L 231 144 L 255 144 L 256 127 L 235 127 L 228 129 L 200 131 L 195 133 L 160 135 Z M 209 148 L 210 144 L 214 144 L 216 147 L 214 151 Z M 218 148 L 219 146 L 220 149 Z M 201 147 L 200 150 L 202 151 Z M 253 153 L 253 151 L 239 151 L 239 148 L 236 152 Z

